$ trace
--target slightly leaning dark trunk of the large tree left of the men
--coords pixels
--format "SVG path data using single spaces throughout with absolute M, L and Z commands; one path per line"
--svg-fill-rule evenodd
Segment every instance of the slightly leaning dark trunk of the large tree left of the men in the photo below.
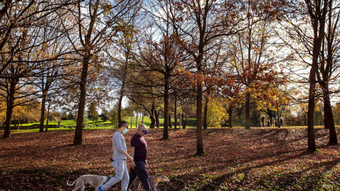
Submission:
M 80 98 L 78 105 L 78 117 L 77 117 L 77 125 L 76 130 L 74 132 L 74 145 L 82 144 L 82 136 L 83 136 L 83 122 L 84 122 L 84 112 L 85 112 L 85 104 L 86 104 L 86 83 L 87 83 L 87 74 L 89 69 L 90 56 L 84 57 L 83 60 L 83 69 L 81 70 L 81 80 L 80 80 Z

